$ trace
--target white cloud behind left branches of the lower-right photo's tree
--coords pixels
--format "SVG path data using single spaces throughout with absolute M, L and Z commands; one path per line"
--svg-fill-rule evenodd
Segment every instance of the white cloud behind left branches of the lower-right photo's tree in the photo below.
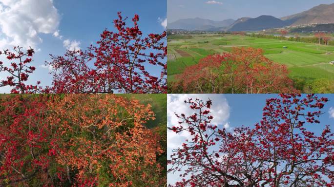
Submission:
M 184 103 L 188 98 L 199 98 L 207 101 L 208 98 L 212 100 L 211 113 L 213 116 L 212 124 L 219 128 L 230 128 L 227 120 L 230 117 L 230 106 L 226 98 L 221 94 L 168 94 L 167 95 L 167 126 L 172 127 L 178 124 L 176 113 L 184 113 L 186 115 L 192 114 L 194 111 L 189 109 L 188 104 Z M 167 131 L 167 147 L 168 149 L 175 149 L 182 145 L 185 139 L 189 138 L 188 132 L 181 132 L 176 134 L 173 131 Z

